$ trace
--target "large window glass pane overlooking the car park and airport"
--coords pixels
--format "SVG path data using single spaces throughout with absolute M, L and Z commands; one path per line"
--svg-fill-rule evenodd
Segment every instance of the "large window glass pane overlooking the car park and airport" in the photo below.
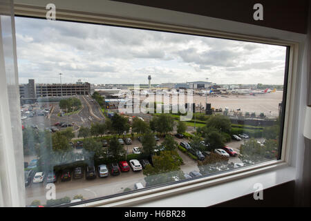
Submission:
M 16 32 L 27 205 L 279 155 L 284 46 L 22 17 Z

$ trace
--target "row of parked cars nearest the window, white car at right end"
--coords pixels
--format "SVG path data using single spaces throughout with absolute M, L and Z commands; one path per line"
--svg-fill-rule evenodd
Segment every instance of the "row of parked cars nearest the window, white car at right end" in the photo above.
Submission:
M 93 180 L 97 177 L 97 174 L 99 177 L 108 177 L 109 174 L 120 175 L 121 172 L 128 172 L 131 169 L 133 171 L 142 171 L 142 169 L 144 169 L 149 164 L 149 160 L 129 160 L 129 162 L 114 162 L 109 165 L 101 164 L 97 166 L 97 169 L 95 169 L 94 165 L 88 165 L 85 168 L 82 166 L 77 166 L 73 169 L 73 171 L 65 169 L 60 173 L 55 173 L 54 171 L 48 171 L 45 173 L 43 171 L 35 171 L 30 169 L 25 171 L 25 186 L 28 186 L 31 182 L 57 182 L 57 177 L 60 177 L 62 182 L 69 181 L 72 178 L 81 179 L 84 177 L 84 175 L 86 180 Z

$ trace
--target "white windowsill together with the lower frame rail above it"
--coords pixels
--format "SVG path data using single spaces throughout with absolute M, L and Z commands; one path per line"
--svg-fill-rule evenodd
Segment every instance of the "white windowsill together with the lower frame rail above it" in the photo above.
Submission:
M 133 193 L 129 194 L 131 198 L 111 198 L 77 206 L 206 207 L 254 193 L 256 189 L 253 186 L 256 183 L 263 184 L 263 189 L 267 189 L 295 180 L 295 169 L 292 166 L 279 163 L 267 167 L 257 172 L 246 171 L 160 193 Z M 263 198 L 264 195 L 265 191 Z

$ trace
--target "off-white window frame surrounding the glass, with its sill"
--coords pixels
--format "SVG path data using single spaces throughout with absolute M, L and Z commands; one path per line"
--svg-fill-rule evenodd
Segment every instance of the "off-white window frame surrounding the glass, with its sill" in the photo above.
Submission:
M 305 35 L 273 28 L 227 21 L 200 15 L 191 15 L 184 12 L 175 12 L 146 6 L 136 6 L 113 1 L 15 1 L 15 15 L 45 18 L 45 6 L 55 3 L 57 19 L 82 21 L 86 23 L 103 23 L 132 28 L 147 28 L 180 32 L 191 35 L 208 37 L 222 37 L 228 39 L 253 41 L 258 43 L 290 46 L 290 62 L 288 73 L 288 94 L 286 96 L 285 123 L 283 131 L 283 146 L 281 160 L 263 162 L 254 166 L 247 166 L 234 171 L 200 177 L 155 189 L 142 190 L 136 193 L 120 195 L 115 198 L 106 198 L 94 202 L 79 204 L 78 206 L 163 206 L 163 202 L 171 202 L 171 206 L 180 206 L 178 197 L 186 197 L 187 202 L 196 202 L 196 193 L 205 191 L 208 194 L 222 191 L 224 185 L 241 186 L 257 177 L 262 182 L 269 183 L 265 188 L 294 180 L 294 154 L 296 153 L 297 136 L 294 113 L 299 113 L 299 96 L 301 94 L 299 77 L 301 75 L 302 50 L 305 45 Z M 252 16 L 252 15 L 250 15 Z M 53 21 L 50 21 L 53 22 Z M 279 179 L 272 179 L 272 177 Z M 255 177 L 255 178 L 254 178 Z M 256 180 L 256 179 L 255 179 Z M 220 200 L 207 200 L 196 206 L 209 206 L 238 196 L 252 193 L 254 189 L 237 190 L 236 195 L 227 195 Z M 191 192 L 191 193 L 189 193 Z M 190 195 L 189 195 L 190 194 Z M 177 196 L 177 198 L 176 198 Z M 175 200 L 174 200 L 175 199 Z M 200 200 L 199 200 L 200 201 Z M 192 204 L 194 205 L 194 204 Z M 184 204 L 191 206 L 191 204 Z

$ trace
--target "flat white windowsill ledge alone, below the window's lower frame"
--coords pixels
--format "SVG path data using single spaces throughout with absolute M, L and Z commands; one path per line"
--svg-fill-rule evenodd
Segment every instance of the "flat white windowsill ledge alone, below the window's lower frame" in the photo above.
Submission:
M 257 175 L 252 175 L 243 179 L 218 184 L 217 186 L 209 186 L 204 189 L 198 189 L 189 193 L 182 193 L 173 195 L 169 198 L 162 198 L 160 200 L 152 200 L 150 202 L 143 202 L 135 204 L 135 206 L 148 207 L 205 207 L 239 198 L 249 193 L 254 193 L 254 184 L 261 183 L 263 188 L 267 189 L 272 186 L 277 186 L 285 182 L 295 179 L 295 169 L 292 166 L 285 166 L 274 171 L 265 172 Z M 263 198 L 265 198 L 265 191 L 263 191 Z

